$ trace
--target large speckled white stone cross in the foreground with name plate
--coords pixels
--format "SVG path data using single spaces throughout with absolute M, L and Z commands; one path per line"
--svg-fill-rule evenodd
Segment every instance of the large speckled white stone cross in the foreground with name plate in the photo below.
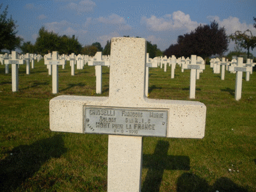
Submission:
M 143 136 L 204 137 L 204 104 L 145 97 L 145 61 L 145 39 L 112 38 L 109 97 L 50 101 L 51 131 L 109 134 L 108 191 L 140 191 Z

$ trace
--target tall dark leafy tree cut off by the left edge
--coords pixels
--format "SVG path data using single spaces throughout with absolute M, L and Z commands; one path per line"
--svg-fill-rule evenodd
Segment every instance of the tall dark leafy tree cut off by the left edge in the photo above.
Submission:
M 3 3 L 0 5 L 0 10 L 3 6 Z M 18 27 L 16 21 L 10 18 L 7 18 L 8 6 L 4 9 L 3 13 L 0 15 L 0 51 L 2 49 L 7 49 L 12 51 L 15 48 L 20 46 L 22 38 L 16 37 L 18 31 L 15 31 Z

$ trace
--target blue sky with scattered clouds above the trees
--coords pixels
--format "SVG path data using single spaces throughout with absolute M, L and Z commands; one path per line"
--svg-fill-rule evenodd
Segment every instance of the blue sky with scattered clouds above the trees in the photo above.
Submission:
M 190 33 L 200 24 L 216 20 L 227 35 L 253 28 L 255 0 L 1 0 L 1 12 L 8 5 L 8 17 L 17 20 L 24 42 L 35 43 L 38 31 L 75 35 L 80 44 L 99 42 L 118 36 L 140 36 L 164 51 L 177 43 L 179 35 Z M 234 51 L 230 42 L 228 52 Z M 243 50 L 245 51 L 245 49 Z M 256 48 L 253 49 L 256 56 Z

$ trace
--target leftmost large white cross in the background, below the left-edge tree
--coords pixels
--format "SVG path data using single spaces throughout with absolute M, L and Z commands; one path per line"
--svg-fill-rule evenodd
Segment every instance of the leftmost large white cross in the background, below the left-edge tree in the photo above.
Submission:
M 12 64 L 12 92 L 19 90 L 19 65 L 24 64 L 24 60 L 18 59 L 18 53 L 12 51 L 12 59 L 6 60 L 6 64 Z

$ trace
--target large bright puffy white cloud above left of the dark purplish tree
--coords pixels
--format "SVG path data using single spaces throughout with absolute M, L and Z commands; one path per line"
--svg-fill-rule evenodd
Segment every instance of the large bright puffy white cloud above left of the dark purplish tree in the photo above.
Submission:
M 191 31 L 198 26 L 198 22 L 191 20 L 189 15 L 181 11 L 166 14 L 164 17 L 156 17 L 155 15 L 150 18 L 142 17 L 141 24 L 150 31 L 173 31 L 175 29 Z

